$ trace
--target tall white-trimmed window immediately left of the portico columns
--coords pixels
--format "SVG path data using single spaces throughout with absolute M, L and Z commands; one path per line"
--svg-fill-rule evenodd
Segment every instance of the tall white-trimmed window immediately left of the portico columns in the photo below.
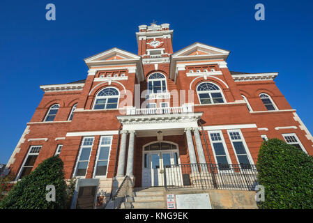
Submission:
M 94 177 L 107 176 L 107 167 L 109 164 L 109 153 L 111 151 L 111 146 L 112 136 L 105 136 L 100 138 Z

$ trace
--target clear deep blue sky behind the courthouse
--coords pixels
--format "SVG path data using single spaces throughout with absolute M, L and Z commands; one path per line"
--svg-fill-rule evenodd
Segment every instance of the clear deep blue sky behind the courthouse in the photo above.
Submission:
M 56 21 L 45 20 L 47 3 Z M 266 20 L 254 20 L 263 3 Z M 312 1 L 0 2 L 0 163 L 8 162 L 43 96 L 41 84 L 85 79 L 83 59 L 112 47 L 137 54 L 141 24 L 169 23 L 174 52 L 194 42 L 231 54 L 229 70 L 280 72 L 277 86 L 312 132 Z

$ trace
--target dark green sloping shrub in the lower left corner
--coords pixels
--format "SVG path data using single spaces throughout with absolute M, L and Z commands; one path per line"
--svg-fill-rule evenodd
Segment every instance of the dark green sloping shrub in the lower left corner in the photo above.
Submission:
M 54 185 L 56 201 L 47 201 L 47 185 Z M 63 162 L 59 157 L 49 157 L 10 190 L 0 202 L 0 208 L 53 209 L 66 208 L 66 182 Z

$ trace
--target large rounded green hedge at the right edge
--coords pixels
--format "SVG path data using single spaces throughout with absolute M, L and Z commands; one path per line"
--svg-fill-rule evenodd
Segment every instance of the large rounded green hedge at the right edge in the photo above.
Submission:
M 262 144 L 258 180 L 265 187 L 259 208 L 313 208 L 313 157 L 280 139 Z

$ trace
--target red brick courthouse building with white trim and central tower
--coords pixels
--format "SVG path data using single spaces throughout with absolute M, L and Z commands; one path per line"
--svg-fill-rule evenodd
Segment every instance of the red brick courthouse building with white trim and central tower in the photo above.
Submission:
M 215 164 L 256 164 L 268 138 L 313 155 L 277 72 L 231 72 L 229 51 L 202 43 L 173 52 L 172 35 L 169 24 L 139 26 L 138 55 L 112 48 L 84 60 L 86 79 L 40 86 L 43 99 L 7 164 L 17 179 L 57 154 L 66 178 L 100 178 L 107 192 L 114 176 L 163 185 L 151 169 L 209 155 Z

